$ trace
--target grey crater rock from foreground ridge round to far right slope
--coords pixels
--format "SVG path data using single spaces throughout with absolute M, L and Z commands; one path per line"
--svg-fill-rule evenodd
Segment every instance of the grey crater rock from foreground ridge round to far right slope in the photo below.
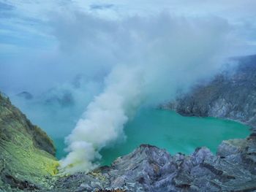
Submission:
M 164 107 L 181 115 L 228 118 L 256 127 L 256 55 Z M 170 155 L 140 145 L 129 155 L 89 174 L 61 177 L 56 191 L 256 191 L 256 133 L 223 141 L 217 154 L 206 147 Z

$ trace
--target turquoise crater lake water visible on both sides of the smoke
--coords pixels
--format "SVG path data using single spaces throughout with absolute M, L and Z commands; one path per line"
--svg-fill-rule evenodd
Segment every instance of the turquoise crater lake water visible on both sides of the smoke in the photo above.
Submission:
M 190 154 L 196 147 L 208 147 L 216 153 L 222 140 L 244 138 L 249 135 L 249 126 L 219 118 L 184 117 L 170 110 L 140 110 L 124 126 L 127 139 L 100 151 L 102 165 L 109 165 L 132 152 L 140 144 L 155 145 L 175 154 Z M 57 158 L 66 155 L 64 138 L 53 138 Z

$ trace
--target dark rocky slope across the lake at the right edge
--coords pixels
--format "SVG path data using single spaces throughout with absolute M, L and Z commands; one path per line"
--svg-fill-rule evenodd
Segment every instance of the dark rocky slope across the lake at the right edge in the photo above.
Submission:
M 181 115 L 228 118 L 256 128 L 256 55 L 234 59 L 228 68 L 207 85 L 200 85 L 181 96 L 166 109 Z

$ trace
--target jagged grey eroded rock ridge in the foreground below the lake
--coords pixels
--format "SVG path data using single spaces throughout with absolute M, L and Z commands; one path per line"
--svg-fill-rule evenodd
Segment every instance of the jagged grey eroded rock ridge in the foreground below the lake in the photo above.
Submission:
M 61 177 L 55 190 L 255 191 L 255 152 L 254 134 L 222 142 L 217 155 L 206 147 L 197 148 L 192 155 L 170 155 L 157 147 L 140 145 L 111 166 Z

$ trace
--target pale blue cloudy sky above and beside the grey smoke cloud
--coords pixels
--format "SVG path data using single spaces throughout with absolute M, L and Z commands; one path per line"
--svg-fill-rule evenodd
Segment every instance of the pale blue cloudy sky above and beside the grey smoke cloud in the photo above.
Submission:
M 111 23 L 111 20 L 116 22 L 133 16 L 154 17 L 162 12 L 184 18 L 221 18 L 229 23 L 231 34 L 236 36 L 239 42 L 236 51 L 230 55 L 248 55 L 254 54 L 256 50 L 255 7 L 255 0 L 112 0 L 107 3 L 89 0 L 0 0 L 0 90 L 33 91 L 31 87 L 35 82 L 39 85 L 42 75 L 45 77 L 45 74 L 49 77 L 45 78 L 47 83 L 43 83 L 45 88 L 49 88 L 46 84 L 63 82 L 61 78 L 67 79 L 70 69 L 63 69 L 63 75 L 60 75 L 58 80 L 53 77 L 69 59 L 64 55 L 70 54 L 72 57 L 70 48 L 69 53 L 67 50 L 65 52 L 65 49 L 74 46 L 75 37 L 69 39 L 69 42 L 72 42 L 70 45 L 67 40 L 62 41 L 62 32 L 68 31 L 69 28 L 61 28 L 59 24 L 63 20 L 67 23 L 72 20 L 73 15 L 70 15 L 70 12 L 75 14 L 76 18 L 79 18 L 78 14 L 90 17 L 92 15 L 91 23 L 94 23 L 94 18 L 102 18 Z M 109 26 L 101 24 L 100 21 L 95 25 L 101 25 L 102 28 Z M 73 30 L 79 31 L 76 27 L 72 26 Z M 64 43 L 67 45 L 64 46 Z M 108 55 L 106 51 L 108 50 L 101 50 L 100 53 Z M 79 63 L 77 60 L 80 58 L 76 60 L 75 57 L 77 55 L 74 55 L 70 62 Z M 93 64 L 105 60 L 108 61 L 106 63 L 115 61 L 114 58 L 104 57 L 97 58 L 96 61 L 93 56 L 86 60 Z M 49 67 L 53 65 L 55 67 Z M 102 69 L 105 69 L 104 66 Z M 41 88 L 40 85 L 38 87 Z

